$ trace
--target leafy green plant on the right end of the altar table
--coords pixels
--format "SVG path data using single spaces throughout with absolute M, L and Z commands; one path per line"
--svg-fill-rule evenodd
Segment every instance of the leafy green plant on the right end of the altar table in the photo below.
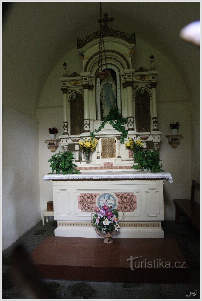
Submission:
M 146 168 L 147 170 L 159 173 L 162 170 L 162 163 L 160 163 L 160 156 L 158 151 L 142 151 L 139 150 L 134 153 L 134 161 L 138 165 L 133 165 L 131 168 L 138 170 L 140 168 Z

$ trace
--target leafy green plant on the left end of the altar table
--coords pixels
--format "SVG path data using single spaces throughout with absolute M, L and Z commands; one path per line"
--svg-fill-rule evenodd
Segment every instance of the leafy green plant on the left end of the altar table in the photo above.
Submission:
M 54 171 L 56 171 L 56 174 L 59 174 L 62 171 L 63 175 L 68 175 L 68 174 L 76 174 L 80 173 L 80 170 L 75 169 L 77 167 L 72 161 L 74 160 L 73 153 L 69 151 L 65 151 L 64 153 L 58 153 L 53 156 L 48 160 L 48 162 L 51 162 L 50 167 L 52 169 L 53 174 Z

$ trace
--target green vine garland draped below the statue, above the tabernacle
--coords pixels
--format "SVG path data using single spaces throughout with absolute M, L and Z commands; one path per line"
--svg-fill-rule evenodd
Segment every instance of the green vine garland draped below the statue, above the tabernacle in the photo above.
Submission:
M 124 139 L 127 138 L 128 135 L 128 131 L 124 127 L 124 124 L 127 124 L 127 118 L 123 118 L 117 107 L 109 110 L 109 115 L 104 118 L 104 121 L 101 123 L 100 127 L 91 133 L 91 137 L 95 137 L 94 133 L 98 133 L 101 128 L 104 128 L 104 125 L 108 121 L 112 127 L 115 128 L 115 130 L 121 132 L 120 143 L 124 143 Z

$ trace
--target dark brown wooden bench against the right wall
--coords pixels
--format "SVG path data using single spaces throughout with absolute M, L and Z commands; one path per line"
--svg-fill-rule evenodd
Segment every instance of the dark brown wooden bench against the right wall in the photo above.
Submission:
M 188 199 L 174 199 L 175 205 L 175 224 L 179 223 L 179 216 L 185 215 L 194 227 L 200 231 L 200 206 L 194 202 L 195 188 L 200 189 L 200 184 L 192 180 L 191 183 L 191 197 Z

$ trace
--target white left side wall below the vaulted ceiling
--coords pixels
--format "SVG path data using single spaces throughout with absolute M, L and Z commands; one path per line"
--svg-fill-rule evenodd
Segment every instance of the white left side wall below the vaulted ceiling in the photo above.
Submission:
M 40 221 L 38 120 L 2 108 L 2 249 Z

